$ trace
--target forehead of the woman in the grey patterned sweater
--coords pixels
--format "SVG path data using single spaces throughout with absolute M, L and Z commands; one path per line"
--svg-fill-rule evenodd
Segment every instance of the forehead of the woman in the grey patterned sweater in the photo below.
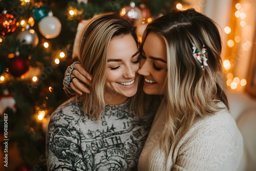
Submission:
M 110 40 L 108 48 L 108 59 L 111 58 L 131 58 L 138 51 L 138 46 L 131 34 L 114 37 Z

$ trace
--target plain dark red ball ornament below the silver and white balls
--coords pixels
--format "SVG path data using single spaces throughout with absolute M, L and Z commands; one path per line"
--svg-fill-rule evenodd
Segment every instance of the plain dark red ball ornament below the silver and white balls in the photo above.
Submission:
M 29 59 L 22 56 L 14 56 L 9 63 L 9 72 L 14 77 L 20 77 L 29 70 Z

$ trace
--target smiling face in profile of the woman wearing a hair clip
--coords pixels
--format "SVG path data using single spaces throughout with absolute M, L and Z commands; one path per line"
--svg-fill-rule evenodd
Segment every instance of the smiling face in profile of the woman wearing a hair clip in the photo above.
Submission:
M 164 39 L 148 33 L 142 47 L 140 69 L 144 76 L 143 91 L 146 94 L 163 95 L 166 93 L 165 79 L 167 76 L 167 54 Z

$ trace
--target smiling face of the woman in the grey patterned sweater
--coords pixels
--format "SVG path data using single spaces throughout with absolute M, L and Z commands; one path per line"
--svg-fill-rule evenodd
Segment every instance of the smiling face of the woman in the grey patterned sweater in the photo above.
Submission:
M 137 92 L 139 75 L 139 50 L 132 35 L 111 39 L 108 48 L 105 100 L 119 104 Z

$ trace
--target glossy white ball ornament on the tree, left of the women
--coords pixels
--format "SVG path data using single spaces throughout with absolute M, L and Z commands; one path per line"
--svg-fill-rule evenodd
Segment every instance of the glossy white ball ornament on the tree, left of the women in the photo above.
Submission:
M 57 17 L 53 16 L 52 11 L 50 11 L 48 16 L 40 20 L 38 29 L 45 38 L 55 38 L 61 31 L 61 23 Z

